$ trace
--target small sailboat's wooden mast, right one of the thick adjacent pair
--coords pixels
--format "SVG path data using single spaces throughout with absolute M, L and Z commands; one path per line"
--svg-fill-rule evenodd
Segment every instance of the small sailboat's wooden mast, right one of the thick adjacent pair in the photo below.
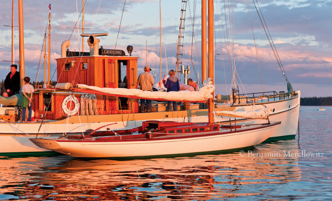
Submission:
M 213 19 L 213 0 L 208 0 L 208 13 L 209 13 L 209 77 L 212 79 L 212 84 L 214 84 L 214 45 L 213 45 L 213 31 L 214 31 L 214 19 Z M 214 116 L 212 115 L 212 111 L 214 110 L 214 92 L 212 94 L 212 98 L 209 99 L 209 123 L 214 123 Z

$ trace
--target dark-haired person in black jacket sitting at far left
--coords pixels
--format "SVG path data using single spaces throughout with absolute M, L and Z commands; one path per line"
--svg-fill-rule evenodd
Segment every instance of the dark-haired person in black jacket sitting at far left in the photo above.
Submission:
M 17 65 L 11 65 L 11 72 L 8 73 L 5 79 L 5 89 L 3 96 L 9 97 L 17 94 L 20 91 L 20 72 L 17 71 Z

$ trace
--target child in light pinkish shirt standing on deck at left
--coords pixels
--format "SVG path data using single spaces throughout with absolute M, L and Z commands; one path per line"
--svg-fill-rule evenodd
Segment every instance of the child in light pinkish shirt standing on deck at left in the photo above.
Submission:
M 22 122 L 25 121 L 25 112 L 28 108 L 29 116 L 28 122 L 31 122 L 31 113 L 32 113 L 32 94 L 34 92 L 33 85 L 29 84 L 30 77 L 25 77 L 24 79 L 25 84 L 22 86 L 22 93 L 23 93 L 23 102 L 22 102 Z

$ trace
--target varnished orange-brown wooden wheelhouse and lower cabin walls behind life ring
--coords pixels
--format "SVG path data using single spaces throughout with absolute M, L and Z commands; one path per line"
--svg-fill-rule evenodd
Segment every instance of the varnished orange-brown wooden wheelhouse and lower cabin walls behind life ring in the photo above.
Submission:
M 87 84 L 98 87 L 110 88 L 136 88 L 137 87 L 137 59 L 127 56 L 83 56 L 65 57 L 57 60 L 58 83 L 69 82 Z M 127 81 L 124 82 L 124 77 Z M 53 95 L 52 95 L 53 93 Z M 59 89 L 38 89 L 34 93 L 33 108 L 35 117 L 58 120 L 66 116 L 63 110 L 63 101 L 67 96 L 74 95 L 81 103 L 82 93 L 69 92 Z M 138 99 L 115 97 L 108 95 L 96 95 L 97 114 L 125 114 L 138 113 Z M 51 102 L 47 109 L 47 103 Z M 46 106 L 46 107 L 45 107 Z M 69 108 L 69 106 L 71 108 Z M 67 104 L 68 109 L 74 109 L 74 103 Z M 86 106 L 88 107 L 88 105 Z M 80 106 L 81 108 L 81 106 Z M 96 113 L 96 112 L 95 112 Z M 80 111 L 78 111 L 80 114 Z M 96 114 L 94 114 L 96 115 Z

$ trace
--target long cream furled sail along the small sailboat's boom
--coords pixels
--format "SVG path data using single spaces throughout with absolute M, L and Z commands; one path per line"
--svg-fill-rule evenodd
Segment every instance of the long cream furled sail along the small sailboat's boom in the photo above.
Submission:
M 156 100 L 169 100 L 169 101 L 188 101 L 188 102 L 204 102 L 209 98 L 213 98 L 214 85 L 212 81 L 206 80 L 203 86 L 198 91 L 142 91 L 136 88 L 101 88 L 97 86 L 89 86 L 86 84 L 77 84 L 76 86 L 81 89 L 91 89 L 108 93 L 115 96 L 130 96 L 135 98 L 156 99 Z

